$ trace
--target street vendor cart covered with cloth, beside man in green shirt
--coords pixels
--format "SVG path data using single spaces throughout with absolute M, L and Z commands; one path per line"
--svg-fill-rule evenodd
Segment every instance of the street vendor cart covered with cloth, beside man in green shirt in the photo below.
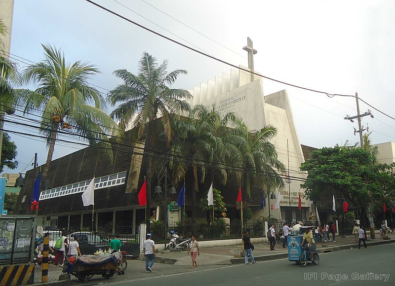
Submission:
M 94 275 L 109 279 L 118 272 L 121 260 L 118 251 L 102 255 L 72 256 L 67 259 L 65 272 L 74 275 L 81 282 L 88 282 Z

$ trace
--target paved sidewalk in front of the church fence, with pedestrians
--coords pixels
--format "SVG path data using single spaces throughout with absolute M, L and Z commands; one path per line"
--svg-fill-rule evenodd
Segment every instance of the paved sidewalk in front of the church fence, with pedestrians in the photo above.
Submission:
M 395 240 L 375 239 L 366 242 L 367 246 L 387 243 L 395 243 Z M 282 244 L 280 243 L 276 244 L 276 250 L 270 250 L 268 242 L 254 243 L 254 247 L 253 254 L 257 261 L 288 257 L 288 248 L 282 248 Z M 316 249 L 318 253 L 323 253 L 356 247 L 355 237 L 347 236 L 343 238 L 336 237 L 336 242 L 327 242 L 327 247 L 323 247 L 321 243 L 318 243 Z M 231 265 L 244 263 L 244 257 L 235 258 L 235 253 L 240 253 L 241 250 L 241 243 L 238 246 L 200 248 L 200 255 L 197 256 L 197 263 L 198 265 Z M 163 253 L 163 251 L 161 251 L 161 253 L 157 254 L 155 261 L 173 265 L 191 265 L 191 256 L 187 254 L 187 251 L 170 251 L 170 253 Z

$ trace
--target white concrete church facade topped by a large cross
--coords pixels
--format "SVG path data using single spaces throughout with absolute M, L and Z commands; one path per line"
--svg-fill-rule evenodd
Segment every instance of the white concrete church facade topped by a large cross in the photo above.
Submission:
M 311 201 L 303 198 L 304 189 L 300 188 L 301 181 L 292 180 L 292 177 L 306 179 L 307 174 L 299 169 L 300 164 L 304 162 L 304 155 L 287 91 L 281 90 L 265 96 L 262 77 L 246 72 L 253 71 L 253 54 L 256 53 L 249 38 L 244 50 L 248 51 L 249 67 L 240 66 L 239 71 L 231 70 L 230 74 L 223 73 L 222 77 L 215 77 L 214 80 L 209 79 L 207 83 L 195 86 L 189 90 L 193 95 L 190 104 L 192 107 L 197 104 L 206 107 L 215 106 L 223 114 L 234 111 L 237 116 L 243 118 L 251 131 L 259 130 L 268 124 L 274 125 L 277 128 L 277 136 L 271 142 L 276 146 L 278 159 L 287 169 L 289 166 L 291 180 L 286 181 L 285 188 L 279 191 L 281 214 L 278 209 L 273 209 L 272 205 L 275 201 L 270 201 L 268 207 L 271 208 L 271 214 L 276 218 L 286 219 L 286 221 L 297 221 L 298 218 L 304 221 L 309 220 L 306 216 L 311 211 Z M 298 210 L 299 194 L 302 197 L 304 212 L 302 217 L 299 216 Z M 265 217 L 269 214 L 269 208 L 264 210 Z M 254 214 L 255 217 L 260 215 L 262 212 L 258 211 Z

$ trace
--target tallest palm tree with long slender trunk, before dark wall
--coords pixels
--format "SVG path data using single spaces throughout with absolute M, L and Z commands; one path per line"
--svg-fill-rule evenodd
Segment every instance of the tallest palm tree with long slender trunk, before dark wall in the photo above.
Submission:
M 166 139 L 172 137 L 170 120 L 174 114 L 179 114 L 183 110 L 189 110 L 186 100 L 192 95 L 184 90 L 170 88 L 175 83 L 180 74 L 187 74 L 185 70 L 175 70 L 167 72 L 167 61 L 162 64 L 157 63 L 157 59 L 147 52 L 139 62 L 139 73 L 137 75 L 127 70 L 117 70 L 114 72 L 123 80 L 123 84 L 118 85 L 109 92 L 108 99 L 112 106 L 120 105 L 111 112 L 113 118 L 119 120 L 122 129 L 127 127 L 138 128 L 138 138 L 145 136 L 145 150 L 147 154 L 155 152 L 156 142 L 155 120 L 160 117 Z M 147 231 L 150 231 L 150 207 L 151 207 L 151 178 L 152 178 L 152 157 L 147 158 L 147 206 L 146 223 Z

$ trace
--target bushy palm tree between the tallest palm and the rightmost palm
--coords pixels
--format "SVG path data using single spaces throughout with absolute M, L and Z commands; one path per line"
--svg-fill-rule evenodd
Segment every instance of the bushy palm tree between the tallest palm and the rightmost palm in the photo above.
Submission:
M 170 167 L 173 170 L 174 182 L 177 184 L 184 179 L 187 171 L 192 168 L 194 178 L 194 190 L 192 192 L 192 224 L 196 223 L 196 193 L 198 187 L 198 173 L 200 181 L 204 182 L 206 167 L 204 163 L 214 165 L 211 170 L 213 179 L 215 170 L 220 172 L 223 183 L 227 180 L 227 158 L 230 152 L 235 150 L 231 143 L 224 143 L 222 138 L 227 135 L 227 123 L 235 118 L 234 113 L 229 112 L 224 116 L 215 110 L 197 105 L 193 108 L 188 118 L 180 118 L 175 121 L 174 133 L 177 134 L 171 145 Z

